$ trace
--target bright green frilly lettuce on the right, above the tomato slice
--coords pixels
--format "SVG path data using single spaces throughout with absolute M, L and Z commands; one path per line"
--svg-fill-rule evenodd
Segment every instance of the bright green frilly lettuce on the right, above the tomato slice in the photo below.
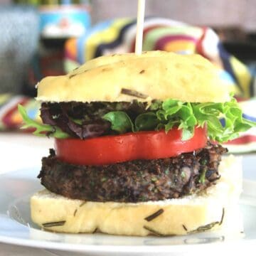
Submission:
M 182 130 L 183 140 L 193 137 L 195 127 L 203 127 L 205 124 L 208 127 L 208 137 L 218 142 L 235 139 L 239 136 L 239 132 L 245 132 L 250 127 L 256 126 L 255 122 L 242 117 L 242 110 L 234 98 L 230 102 L 223 103 L 156 101 L 146 113 L 139 114 L 134 122 L 124 112 L 120 122 L 121 113 L 121 111 L 113 111 L 103 117 L 112 123 L 112 129 L 117 132 L 159 129 L 165 129 L 168 132 L 173 127 L 178 127 Z

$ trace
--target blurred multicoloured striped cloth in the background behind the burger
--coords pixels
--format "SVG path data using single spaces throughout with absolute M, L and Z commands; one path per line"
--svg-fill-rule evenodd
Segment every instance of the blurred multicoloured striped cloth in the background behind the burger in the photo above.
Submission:
M 134 52 L 135 36 L 136 21 L 134 19 L 119 18 L 98 23 L 85 35 L 80 38 L 71 38 L 65 43 L 66 72 L 101 55 Z M 144 23 L 143 50 L 166 50 L 181 54 L 198 53 L 208 58 L 219 68 L 224 86 L 228 86 L 230 92 L 235 92 L 240 100 L 244 116 L 247 119 L 256 120 L 256 113 L 253 111 L 256 107 L 256 98 L 250 98 L 253 96 L 254 78 L 246 65 L 223 48 L 218 35 L 212 29 L 189 26 L 167 18 L 148 17 Z M 31 118 L 38 118 L 38 103 L 23 97 L 13 99 L 5 95 L 0 97 L 0 129 L 15 128 L 20 125 L 21 118 L 14 107 L 15 102 L 18 101 L 26 106 Z M 256 129 L 250 129 L 241 134 L 240 138 L 228 142 L 227 146 L 233 152 L 255 151 Z

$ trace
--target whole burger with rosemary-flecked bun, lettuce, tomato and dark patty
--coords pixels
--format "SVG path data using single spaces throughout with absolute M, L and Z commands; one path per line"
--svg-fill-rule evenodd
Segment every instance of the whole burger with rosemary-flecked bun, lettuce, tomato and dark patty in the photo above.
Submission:
M 200 55 L 102 56 L 37 85 L 38 124 L 55 138 L 31 197 L 46 230 L 186 235 L 225 226 L 241 191 L 240 161 L 219 143 L 255 123 Z

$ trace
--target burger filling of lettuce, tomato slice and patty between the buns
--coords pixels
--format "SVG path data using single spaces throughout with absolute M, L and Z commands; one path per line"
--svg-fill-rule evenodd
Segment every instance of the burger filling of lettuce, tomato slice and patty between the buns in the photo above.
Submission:
M 139 96 L 139 95 L 138 95 Z M 85 201 L 142 202 L 201 193 L 220 178 L 220 144 L 255 126 L 230 102 L 43 102 L 43 124 L 22 106 L 25 128 L 55 137 L 38 178 Z M 207 129 L 207 132 L 206 132 Z M 207 133 L 207 134 L 206 134 Z M 207 142 L 208 137 L 208 142 Z

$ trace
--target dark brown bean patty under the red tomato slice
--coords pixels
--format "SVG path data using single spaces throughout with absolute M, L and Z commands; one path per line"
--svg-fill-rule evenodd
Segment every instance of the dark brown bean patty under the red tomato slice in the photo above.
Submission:
M 43 158 L 38 178 L 53 193 L 85 201 L 142 202 L 198 193 L 220 178 L 220 145 L 156 160 L 135 160 L 103 166 L 60 161 L 55 151 Z

